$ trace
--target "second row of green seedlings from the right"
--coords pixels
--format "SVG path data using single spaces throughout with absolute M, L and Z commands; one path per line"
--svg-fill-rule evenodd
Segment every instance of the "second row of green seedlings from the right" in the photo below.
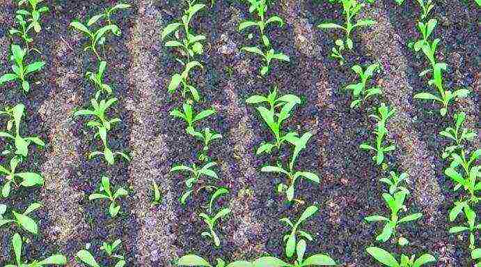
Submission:
M 374 20 L 357 20 L 356 15 L 361 12 L 361 9 L 365 6 L 364 3 L 360 3 L 356 0 L 341 0 L 343 8 L 343 14 L 345 15 L 345 23 L 342 25 L 335 23 L 322 23 L 319 25 L 321 29 L 342 29 L 345 31 L 345 40 L 336 40 L 336 46 L 331 49 L 331 57 L 338 59 L 340 65 L 345 64 L 345 58 L 342 56 L 342 51 L 347 49 L 352 49 L 354 43 L 352 41 L 352 31 L 358 26 L 371 26 L 376 24 Z M 352 102 L 350 104 L 351 108 L 358 108 L 363 105 L 365 100 L 372 98 L 372 96 L 379 96 L 382 94 L 381 88 L 377 86 L 370 86 L 370 79 L 377 72 L 380 73 L 379 63 L 368 64 L 363 68 L 359 65 L 354 65 L 351 69 L 358 75 L 359 81 L 353 84 L 349 84 L 345 87 L 347 91 L 352 91 Z M 386 104 L 381 103 L 376 109 L 377 114 L 371 114 L 370 117 L 376 121 L 374 128 L 374 142 L 364 142 L 359 147 L 365 151 L 370 151 L 373 153 L 372 161 L 375 165 L 381 167 L 383 171 L 388 169 L 388 164 L 385 163 L 386 153 L 395 150 L 394 144 L 389 144 L 386 142 L 386 136 L 388 135 L 388 130 L 386 128 L 386 123 L 395 114 L 395 109 L 388 107 Z M 395 171 L 389 171 L 389 176 L 381 178 L 380 181 L 387 185 L 387 192 L 382 194 L 384 201 L 386 202 L 386 207 L 389 209 L 390 214 L 388 216 L 382 215 L 370 215 L 365 218 L 366 222 L 383 222 L 384 227 L 380 234 L 377 235 L 376 241 L 384 243 L 389 241 L 391 238 L 395 238 L 397 228 L 404 223 L 412 222 L 420 219 L 422 213 L 412 213 L 409 215 L 400 215 L 401 212 L 407 212 L 407 207 L 404 202 L 407 200 L 409 195 L 409 190 L 403 185 L 407 179 L 407 173 L 402 172 L 398 174 Z M 397 240 L 397 244 L 400 246 L 405 246 L 409 244 L 409 241 L 400 236 Z M 374 259 L 379 261 L 385 266 L 399 267 L 419 267 L 423 264 L 428 264 L 436 261 L 436 259 L 431 254 L 423 254 L 416 258 L 416 255 L 411 255 L 410 257 L 402 254 L 400 260 L 395 259 L 395 255 L 382 249 L 381 247 L 367 247 L 366 252 L 370 254 Z

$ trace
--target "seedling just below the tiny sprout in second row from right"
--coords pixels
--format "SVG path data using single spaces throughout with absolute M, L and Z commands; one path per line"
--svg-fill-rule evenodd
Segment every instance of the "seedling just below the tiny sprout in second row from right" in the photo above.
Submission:
M 379 72 L 379 63 L 374 63 L 368 66 L 365 71 L 363 71 L 363 68 L 359 65 L 354 65 L 352 66 L 352 70 L 354 70 L 354 73 L 357 73 L 359 77 L 361 78 L 361 82 L 358 82 L 357 84 L 349 84 L 346 86 L 347 90 L 352 90 L 352 95 L 354 96 L 354 100 L 351 102 L 351 108 L 353 107 L 359 107 L 361 105 L 361 102 L 367 100 L 371 96 L 379 95 L 381 94 L 381 89 L 379 87 L 371 87 L 370 89 L 366 89 L 366 84 L 368 82 L 368 79 L 372 77 L 374 74 L 374 70 L 378 70 Z

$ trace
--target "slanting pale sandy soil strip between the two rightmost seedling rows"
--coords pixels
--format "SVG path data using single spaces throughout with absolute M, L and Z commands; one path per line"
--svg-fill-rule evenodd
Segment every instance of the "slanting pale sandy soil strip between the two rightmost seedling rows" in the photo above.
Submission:
M 388 19 L 386 8 L 366 8 L 365 17 L 377 21 L 375 26 L 366 30 L 361 38 L 365 49 L 372 53 L 373 59 L 381 62 L 384 79 L 379 84 L 384 90 L 384 98 L 395 107 L 396 114 L 388 123 L 390 137 L 397 145 L 397 158 L 402 169 L 409 174 L 409 184 L 416 203 L 420 205 L 429 221 L 436 220 L 436 211 L 442 203 L 443 195 L 436 181 L 433 167 L 434 155 L 427 145 L 418 138 L 410 113 L 413 89 L 409 85 L 406 70 L 407 59 L 402 54 L 400 36 Z

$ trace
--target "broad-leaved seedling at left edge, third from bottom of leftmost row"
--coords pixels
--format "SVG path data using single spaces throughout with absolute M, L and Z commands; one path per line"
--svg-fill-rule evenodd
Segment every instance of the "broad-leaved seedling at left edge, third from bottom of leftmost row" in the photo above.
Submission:
M 2 197 L 8 197 L 10 195 L 12 183 L 13 185 L 22 185 L 24 188 L 43 185 L 43 178 L 40 174 L 31 171 L 16 172 L 19 163 L 19 158 L 14 157 L 10 159 L 10 169 L 6 169 L 6 167 L 0 165 L 0 175 L 5 177 L 1 188 Z M 18 178 L 22 179 L 21 183 L 18 183 Z

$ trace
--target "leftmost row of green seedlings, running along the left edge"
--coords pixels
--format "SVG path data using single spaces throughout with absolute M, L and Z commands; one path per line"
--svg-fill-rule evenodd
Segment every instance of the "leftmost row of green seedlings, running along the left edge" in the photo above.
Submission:
M 0 84 L 6 82 L 15 82 L 22 90 L 24 95 L 31 91 L 30 76 L 38 73 L 44 66 L 44 61 L 33 61 L 27 63 L 32 56 L 32 52 L 41 54 L 33 44 L 33 35 L 40 33 L 42 30 L 41 16 L 42 13 L 49 11 L 47 6 L 39 3 L 42 0 L 19 1 L 19 10 L 16 11 L 15 21 L 17 28 L 10 29 L 9 33 L 12 37 L 10 60 L 13 62 L 13 73 L 7 73 L 0 77 Z M 24 8 L 24 6 L 26 6 Z M 22 45 L 15 44 L 15 40 L 22 40 Z M 3 176 L 1 186 L 1 197 L 4 199 L 10 197 L 11 194 L 20 190 L 20 188 L 38 187 L 44 184 L 43 177 L 36 171 L 22 171 L 22 165 L 29 162 L 31 155 L 31 144 L 38 148 L 45 147 L 45 142 L 39 137 L 23 136 L 23 118 L 26 116 L 26 107 L 19 103 L 14 107 L 5 107 L 0 111 L 0 116 L 6 117 L 6 130 L 0 131 L 0 137 L 6 139 L 6 148 L 1 155 L 6 158 L 6 166 L 0 165 L 0 174 Z M 31 217 L 31 213 L 42 208 L 42 204 L 35 202 L 29 204 L 25 211 L 15 211 L 5 204 L 0 204 L 0 227 L 3 225 L 13 225 L 19 230 L 25 231 L 27 234 L 38 234 L 38 223 Z M 65 265 L 67 259 L 62 254 L 54 254 L 46 259 L 33 260 L 28 263 L 26 259 L 22 259 L 22 245 L 29 243 L 26 234 L 13 235 L 12 247 L 15 254 L 15 262 L 6 264 L 5 266 L 46 266 L 46 265 Z

